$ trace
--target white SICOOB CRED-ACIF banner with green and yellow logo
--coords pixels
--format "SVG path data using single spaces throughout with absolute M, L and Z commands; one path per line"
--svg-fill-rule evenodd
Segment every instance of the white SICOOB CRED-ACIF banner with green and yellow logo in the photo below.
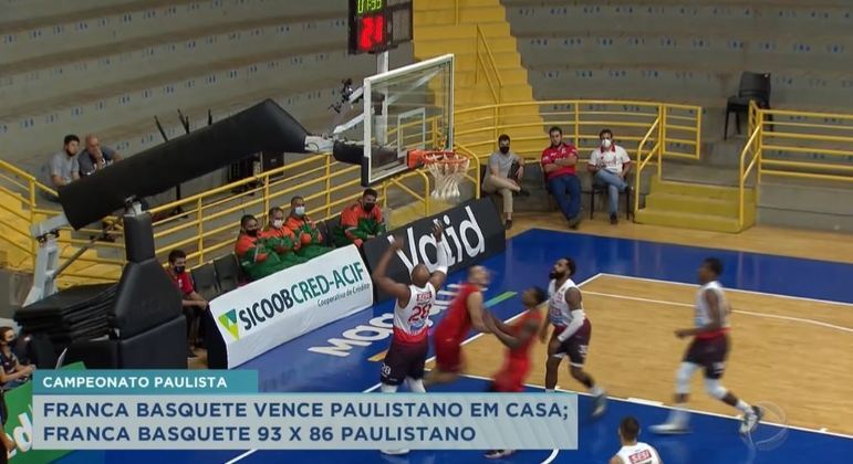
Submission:
M 219 296 L 210 312 L 232 368 L 371 305 L 373 282 L 351 245 Z

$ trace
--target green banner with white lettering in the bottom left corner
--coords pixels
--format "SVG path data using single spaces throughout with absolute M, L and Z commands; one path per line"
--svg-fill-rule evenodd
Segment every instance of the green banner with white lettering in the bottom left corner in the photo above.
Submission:
M 62 370 L 69 371 L 83 369 L 85 369 L 83 362 L 74 362 L 62 368 Z M 39 375 L 38 370 L 35 375 Z M 9 411 L 9 419 L 6 422 L 6 434 L 14 442 L 14 450 L 9 452 L 9 462 L 12 464 L 49 463 L 77 449 L 73 444 L 69 444 L 64 446 L 64 450 L 63 447 L 56 450 L 33 450 L 32 386 L 33 382 L 27 382 L 6 392 L 6 405 Z

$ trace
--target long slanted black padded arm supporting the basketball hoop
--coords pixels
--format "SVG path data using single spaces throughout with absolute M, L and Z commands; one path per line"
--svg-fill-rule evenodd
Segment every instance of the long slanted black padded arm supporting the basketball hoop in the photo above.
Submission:
M 308 131 L 271 99 L 128 157 L 59 190 L 74 229 L 260 151 L 305 152 Z

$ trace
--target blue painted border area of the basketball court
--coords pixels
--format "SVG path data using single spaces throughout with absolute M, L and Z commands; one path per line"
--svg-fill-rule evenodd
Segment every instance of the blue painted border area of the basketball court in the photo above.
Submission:
M 487 260 L 492 270 L 492 285 L 487 299 L 507 292 L 520 292 L 530 285 L 544 286 L 556 257 L 568 255 L 578 262 L 575 282 L 599 273 L 694 283 L 696 268 L 707 256 L 720 257 L 726 272 L 722 283 L 732 288 L 768 294 L 798 296 L 853 304 L 853 265 L 789 259 L 782 256 L 679 246 L 635 240 L 610 239 L 583 234 L 532 230 L 513 238 L 507 251 Z M 807 278 L 820 276 L 819 278 Z M 451 275 L 448 283 L 460 282 L 464 273 Z M 503 319 L 522 308 L 518 298 L 497 303 L 491 310 Z M 375 306 L 314 333 L 292 340 L 242 366 L 259 371 L 262 391 L 374 391 L 377 389 L 379 363 L 371 361 L 387 348 L 389 320 L 383 314 L 391 303 Z M 851 308 L 853 310 L 853 308 Z M 440 319 L 441 315 L 434 319 Z M 591 314 L 594 323 L 594 314 Z M 689 317 L 686 318 L 686 321 Z M 332 340 L 332 341 L 330 341 Z M 312 349 L 313 348 L 313 349 Z M 594 339 L 593 346 L 594 348 Z M 431 356 L 431 352 L 430 352 Z M 614 360 L 622 362 L 622 360 Z M 496 363 L 495 369 L 499 366 Z M 675 370 L 676 366 L 673 366 Z M 565 371 L 561 371 L 561 377 Z M 543 379 L 531 378 L 533 384 Z M 573 383 L 565 382 L 569 386 Z M 487 379 L 465 378 L 437 388 L 443 391 L 483 391 Z M 530 391 L 541 391 L 530 388 Z M 697 392 L 698 393 L 698 392 Z M 701 393 L 699 393 L 701 394 Z M 809 394 L 808 389 L 803 394 Z M 668 410 L 653 404 L 613 400 L 599 421 L 589 418 L 590 400 L 580 398 L 579 451 L 524 451 L 499 462 L 507 463 L 606 463 L 618 450 L 616 429 L 626 414 L 637 416 L 644 425 L 663 421 Z M 839 411 L 850 414 L 850 411 Z M 753 446 L 737 433 L 732 418 L 694 414 L 693 433 L 660 437 L 645 433 L 642 440 L 660 452 L 666 463 L 802 463 L 847 462 L 853 455 L 853 437 L 805 430 L 787 429 L 777 447 Z M 779 432 L 761 425 L 767 436 Z M 755 437 L 761 440 L 761 437 Z M 241 457 L 240 457 L 241 456 Z M 235 461 L 238 458 L 238 461 Z M 481 452 L 414 451 L 406 456 L 384 456 L 379 452 L 277 452 L 236 450 L 227 452 L 76 452 L 62 463 L 472 463 L 487 462 Z

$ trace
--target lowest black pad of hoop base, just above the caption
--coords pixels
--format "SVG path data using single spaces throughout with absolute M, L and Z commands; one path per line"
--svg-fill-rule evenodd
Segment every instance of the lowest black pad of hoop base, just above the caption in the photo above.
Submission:
M 122 369 L 186 369 L 187 321 L 183 315 L 118 341 Z

